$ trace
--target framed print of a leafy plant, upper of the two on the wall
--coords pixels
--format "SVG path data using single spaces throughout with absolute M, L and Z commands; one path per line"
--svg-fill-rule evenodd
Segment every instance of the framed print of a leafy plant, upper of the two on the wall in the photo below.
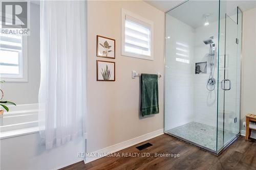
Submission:
M 97 35 L 97 56 L 115 59 L 116 40 Z

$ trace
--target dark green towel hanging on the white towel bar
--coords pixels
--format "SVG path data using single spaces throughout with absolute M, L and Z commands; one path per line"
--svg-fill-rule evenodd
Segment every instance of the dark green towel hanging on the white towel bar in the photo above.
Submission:
M 141 107 L 142 116 L 159 113 L 158 76 L 141 74 Z

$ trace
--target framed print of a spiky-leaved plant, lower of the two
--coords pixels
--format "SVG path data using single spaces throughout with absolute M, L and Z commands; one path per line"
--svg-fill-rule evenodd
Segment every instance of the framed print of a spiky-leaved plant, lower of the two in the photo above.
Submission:
M 115 62 L 97 60 L 97 81 L 115 81 Z

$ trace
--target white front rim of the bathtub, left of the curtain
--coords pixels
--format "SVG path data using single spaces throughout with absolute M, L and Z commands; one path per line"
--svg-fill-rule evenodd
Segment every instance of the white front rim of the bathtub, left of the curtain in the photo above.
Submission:
M 38 127 L 1 132 L 0 139 L 6 139 L 6 138 L 16 137 L 16 136 L 23 136 L 23 135 L 28 135 L 28 134 L 37 133 L 37 132 L 39 132 Z

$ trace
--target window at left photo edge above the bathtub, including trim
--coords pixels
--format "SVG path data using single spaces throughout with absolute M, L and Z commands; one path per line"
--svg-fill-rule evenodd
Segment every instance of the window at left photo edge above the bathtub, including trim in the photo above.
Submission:
M 0 78 L 27 81 L 27 37 L 0 34 Z

